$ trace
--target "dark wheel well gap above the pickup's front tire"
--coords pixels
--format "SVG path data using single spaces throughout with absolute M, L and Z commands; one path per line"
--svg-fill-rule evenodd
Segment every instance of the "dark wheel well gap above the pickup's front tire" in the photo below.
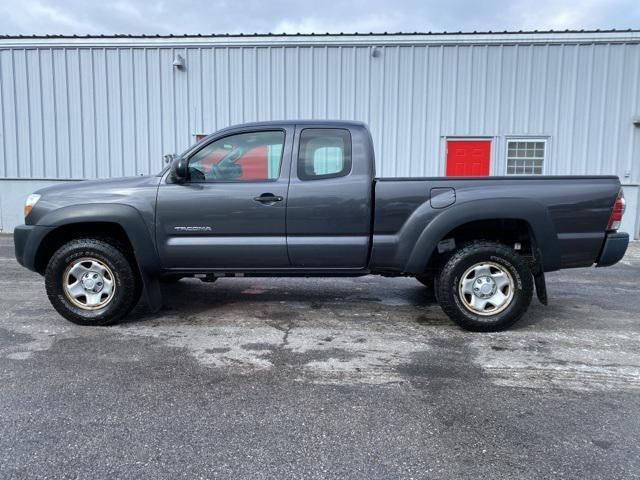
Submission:
M 51 256 L 62 245 L 76 238 L 100 238 L 111 241 L 129 259 L 133 259 L 133 246 L 122 225 L 114 222 L 71 223 L 50 232 L 40 244 L 35 258 L 36 271 L 44 274 Z

